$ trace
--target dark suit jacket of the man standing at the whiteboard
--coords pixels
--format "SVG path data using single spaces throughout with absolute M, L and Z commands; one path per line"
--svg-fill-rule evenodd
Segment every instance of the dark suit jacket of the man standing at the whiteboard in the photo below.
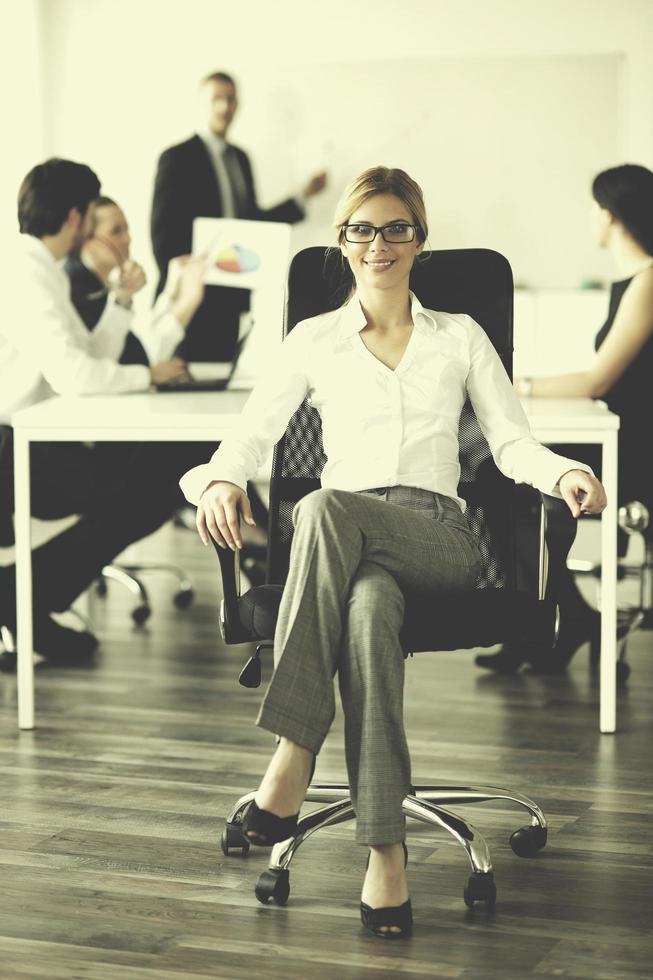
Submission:
M 246 188 L 246 207 L 240 218 L 255 221 L 285 221 L 294 224 L 304 217 L 289 199 L 269 210 L 256 200 L 252 167 L 247 154 L 234 146 Z M 190 252 L 194 218 L 221 218 L 222 199 L 213 163 L 199 136 L 171 146 L 161 154 L 152 201 L 152 246 L 159 266 L 157 295 L 166 280 L 168 262 Z M 238 339 L 238 321 L 249 309 L 249 291 L 208 286 L 204 302 L 186 331 L 179 348 L 187 360 L 231 360 Z

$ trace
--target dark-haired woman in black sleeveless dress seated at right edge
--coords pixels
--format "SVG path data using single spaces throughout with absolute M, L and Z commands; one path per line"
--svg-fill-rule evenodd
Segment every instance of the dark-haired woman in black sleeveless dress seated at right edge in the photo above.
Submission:
M 608 318 L 596 335 L 596 355 L 586 371 L 521 378 L 515 387 L 537 398 L 607 402 L 620 419 L 619 503 L 641 500 L 653 512 L 653 459 L 646 435 L 646 420 L 653 416 L 653 173 L 635 164 L 604 170 L 594 178 L 592 196 L 595 241 L 610 252 L 619 273 L 610 289 Z M 598 447 L 566 449 L 600 471 Z M 585 602 L 568 569 L 559 605 L 560 635 L 553 651 L 506 644 L 498 653 L 480 654 L 477 664 L 511 673 L 529 663 L 549 673 L 564 670 L 587 642 L 598 649 L 599 613 Z

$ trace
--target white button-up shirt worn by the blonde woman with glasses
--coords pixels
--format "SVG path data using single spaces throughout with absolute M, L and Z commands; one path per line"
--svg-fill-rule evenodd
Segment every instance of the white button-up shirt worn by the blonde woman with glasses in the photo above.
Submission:
M 365 315 L 354 296 L 332 313 L 303 320 L 247 400 L 234 433 L 181 488 L 197 503 L 213 480 L 245 489 L 292 414 L 308 396 L 322 419 L 322 486 L 340 490 L 404 485 L 458 501 L 458 424 L 467 395 L 494 460 L 506 476 L 559 496 L 570 469 L 589 467 L 552 453 L 531 435 L 524 410 L 485 331 L 465 314 L 426 310 L 411 293 L 413 332 L 395 370 L 365 346 Z

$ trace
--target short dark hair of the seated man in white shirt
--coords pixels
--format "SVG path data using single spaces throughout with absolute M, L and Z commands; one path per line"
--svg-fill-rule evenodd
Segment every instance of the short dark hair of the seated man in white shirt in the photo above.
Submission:
M 84 217 L 100 193 L 100 181 L 90 167 L 52 158 L 27 174 L 18 191 L 18 226 L 24 235 L 56 235 L 72 208 Z

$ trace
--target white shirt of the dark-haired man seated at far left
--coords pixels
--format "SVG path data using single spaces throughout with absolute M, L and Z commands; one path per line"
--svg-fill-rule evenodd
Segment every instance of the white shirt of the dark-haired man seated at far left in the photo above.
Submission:
M 149 369 L 118 364 L 132 314 L 110 299 L 95 330 L 70 300 L 61 262 L 39 238 L 19 235 L 6 269 L 0 322 L 0 422 L 52 395 L 145 391 Z

